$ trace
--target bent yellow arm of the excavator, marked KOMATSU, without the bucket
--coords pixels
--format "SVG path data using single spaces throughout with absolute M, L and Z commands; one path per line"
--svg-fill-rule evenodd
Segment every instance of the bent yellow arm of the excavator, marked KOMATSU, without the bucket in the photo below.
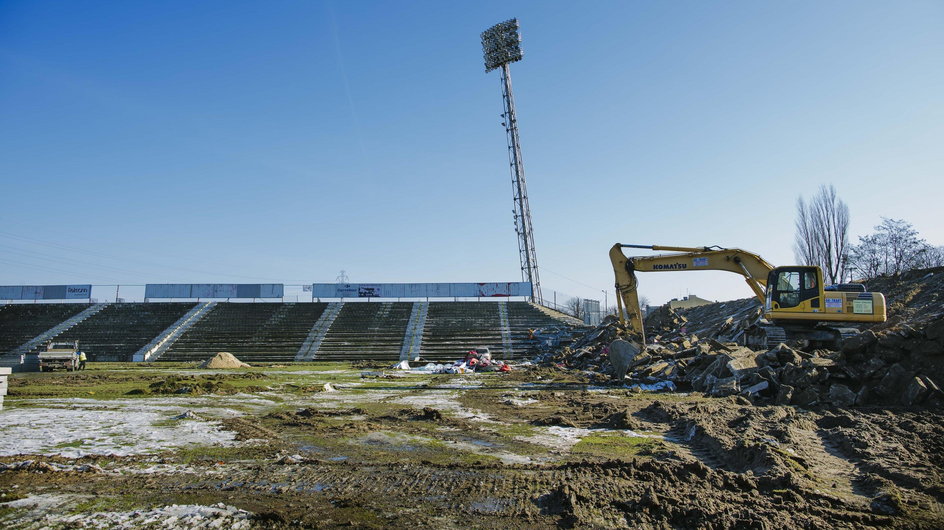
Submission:
M 623 254 L 624 248 L 675 253 L 627 257 Z M 747 285 L 763 304 L 767 276 L 774 268 L 757 254 L 737 248 L 720 247 L 668 247 L 617 243 L 610 249 L 610 261 L 613 263 L 613 273 L 616 275 L 616 304 L 619 308 L 620 321 L 624 326 L 628 325 L 632 331 L 639 334 L 643 344 L 646 342 L 646 334 L 639 308 L 639 294 L 636 290 L 638 285 L 636 271 L 714 270 L 733 272 L 744 276 Z

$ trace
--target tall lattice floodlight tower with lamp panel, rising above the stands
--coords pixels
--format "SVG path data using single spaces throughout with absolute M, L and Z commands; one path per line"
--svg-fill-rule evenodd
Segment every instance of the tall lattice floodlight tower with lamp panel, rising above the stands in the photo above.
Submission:
M 515 233 L 518 234 L 518 255 L 521 260 L 521 279 L 531 282 L 531 300 L 543 304 L 541 280 L 538 276 L 538 258 L 534 250 L 534 232 L 531 229 L 531 207 L 528 205 L 528 186 L 524 180 L 524 162 L 521 160 L 521 142 L 518 138 L 518 117 L 515 115 L 515 97 L 511 93 L 511 68 L 521 60 L 521 36 L 518 19 L 513 18 L 482 32 L 482 50 L 485 54 L 485 72 L 501 68 L 502 99 L 505 112 L 505 136 L 508 140 L 508 164 L 514 193 Z

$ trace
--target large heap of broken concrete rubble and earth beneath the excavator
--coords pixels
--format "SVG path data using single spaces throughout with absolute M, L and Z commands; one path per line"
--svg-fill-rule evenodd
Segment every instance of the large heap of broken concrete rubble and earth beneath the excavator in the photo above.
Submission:
M 758 404 L 944 406 L 944 269 L 883 281 L 870 288 L 888 292 L 888 321 L 846 339 L 842 351 L 739 346 L 761 314 L 756 300 L 744 299 L 684 312 L 662 307 L 646 318 L 646 348 L 607 317 L 538 362 Z

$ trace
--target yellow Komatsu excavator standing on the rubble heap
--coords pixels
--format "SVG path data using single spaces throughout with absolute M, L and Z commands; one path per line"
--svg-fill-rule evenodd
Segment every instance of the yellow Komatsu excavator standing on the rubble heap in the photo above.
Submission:
M 624 248 L 668 251 L 672 254 L 631 256 Z M 636 272 L 728 271 L 744 276 L 763 307 L 764 318 L 747 329 L 738 341 L 755 348 L 772 348 L 788 340 L 814 347 L 839 349 L 842 339 L 859 332 L 835 324 L 885 321 L 885 296 L 870 293 L 860 283 L 823 285 L 816 266 L 774 267 L 757 254 L 737 248 L 624 245 L 610 249 L 616 275 L 616 304 L 620 321 L 646 342 L 636 291 Z

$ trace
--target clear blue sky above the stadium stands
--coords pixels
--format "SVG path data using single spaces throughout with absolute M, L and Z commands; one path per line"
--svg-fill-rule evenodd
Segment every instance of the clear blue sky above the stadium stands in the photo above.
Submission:
M 822 184 L 853 239 L 944 244 L 941 2 L 7 0 L 0 284 L 519 279 L 479 44 L 511 17 L 546 289 L 601 298 L 617 241 L 790 264 Z

